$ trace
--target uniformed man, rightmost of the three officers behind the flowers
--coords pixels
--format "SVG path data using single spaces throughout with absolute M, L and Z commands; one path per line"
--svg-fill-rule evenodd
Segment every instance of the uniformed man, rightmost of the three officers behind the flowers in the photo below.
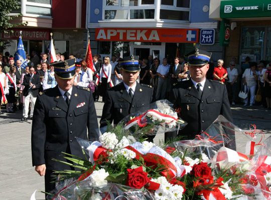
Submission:
M 194 139 L 196 134 L 205 131 L 219 114 L 232 122 L 226 86 L 206 79 L 210 57 L 211 53 L 198 48 L 189 53 L 191 78 L 176 83 L 171 93 L 170 101 L 180 117 L 188 122 L 178 135 L 186 135 L 188 139 Z

